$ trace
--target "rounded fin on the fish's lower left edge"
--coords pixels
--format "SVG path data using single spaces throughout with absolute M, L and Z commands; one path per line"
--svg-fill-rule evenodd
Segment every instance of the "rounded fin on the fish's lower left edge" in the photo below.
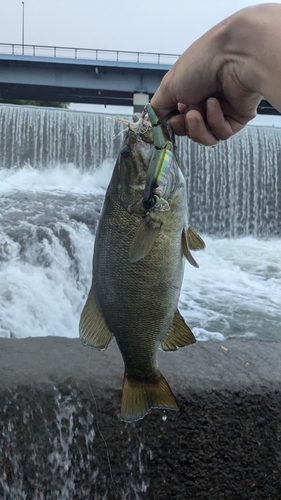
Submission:
M 83 344 L 99 350 L 106 349 L 113 338 L 93 288 L 81 314 L 79 335 Z

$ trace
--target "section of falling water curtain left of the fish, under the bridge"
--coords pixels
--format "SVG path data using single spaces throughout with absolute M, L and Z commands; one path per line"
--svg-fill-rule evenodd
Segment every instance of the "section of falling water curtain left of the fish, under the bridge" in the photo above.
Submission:
M 94 170 L 117 156 L 122 128 L 113 117 L 95 113 L 0 105 L 0 166 Z

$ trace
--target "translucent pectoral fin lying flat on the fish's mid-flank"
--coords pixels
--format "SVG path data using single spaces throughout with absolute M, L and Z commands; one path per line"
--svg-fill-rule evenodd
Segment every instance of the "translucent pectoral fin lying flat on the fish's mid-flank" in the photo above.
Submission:
M 137 262 L 143 259 L 153 247 L 153 244 L 160 232 L 161 223 L 155 223 L 148 216 L 140 224 L 129 250 L 130 262 Z

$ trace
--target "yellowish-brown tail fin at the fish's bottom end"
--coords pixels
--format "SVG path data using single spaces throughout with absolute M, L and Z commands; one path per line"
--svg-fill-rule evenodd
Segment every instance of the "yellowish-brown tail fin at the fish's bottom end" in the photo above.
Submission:
M 152 408 L 178 410 L 175 396 L 163 375 L 155 381 L 140 381 L 124 376 L 121 402 L 121 420 L 134 422 L 143 418 Z

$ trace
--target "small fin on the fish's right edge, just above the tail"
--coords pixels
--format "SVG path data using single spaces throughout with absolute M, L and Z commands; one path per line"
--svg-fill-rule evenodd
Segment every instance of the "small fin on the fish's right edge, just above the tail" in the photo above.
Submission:
M 173 324 L 166 337 L 161 342 L 163 351 L 176 351 L 179 347 L 194 344 L 196 339 L 177 309 L 174 315 Z

